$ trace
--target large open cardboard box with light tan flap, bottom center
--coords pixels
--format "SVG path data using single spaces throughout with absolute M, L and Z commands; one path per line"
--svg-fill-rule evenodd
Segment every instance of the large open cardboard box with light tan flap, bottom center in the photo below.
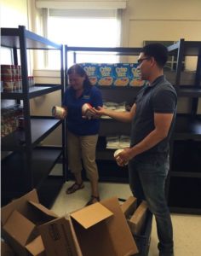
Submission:
M 138 252 L 118 198 L 84 207 L 39 230 L 49 256 L 129 256 Z

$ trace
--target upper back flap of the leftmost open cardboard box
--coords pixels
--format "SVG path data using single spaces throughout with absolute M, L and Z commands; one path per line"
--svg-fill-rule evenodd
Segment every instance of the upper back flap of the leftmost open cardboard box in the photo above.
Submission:
M 27 216 L 29 214 L 29 209 L 27 207 L 27 201 L 39 202 L 36 189 L 33 189 L 31 192 L 27 193 L 26 195 L 23 195 L 19 199 L 16 199 L 16 200 L 10 202 L 7 206 L 2 207 L 2 209 L 1 209 L 2 224 L 6 223 L 7 219 L 9 218 L 9 215 L 14 210 L 17 210 L 18 212 Z

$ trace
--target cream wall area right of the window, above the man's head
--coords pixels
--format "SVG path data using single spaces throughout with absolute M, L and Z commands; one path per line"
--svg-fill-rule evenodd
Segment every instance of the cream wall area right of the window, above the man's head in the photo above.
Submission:
M 128 46 L 144 40 L 201 40 L 200 0 L 129 0 Z

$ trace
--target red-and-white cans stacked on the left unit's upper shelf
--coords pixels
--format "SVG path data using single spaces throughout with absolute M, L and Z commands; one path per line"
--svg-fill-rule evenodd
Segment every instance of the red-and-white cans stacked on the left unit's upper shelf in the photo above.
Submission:
M 28 87 L 34 85 L 33 76 L 28 78 Z M 3 91 L 22 90 L 21 67 L 19 65 L 1 65 L 1 84 Z

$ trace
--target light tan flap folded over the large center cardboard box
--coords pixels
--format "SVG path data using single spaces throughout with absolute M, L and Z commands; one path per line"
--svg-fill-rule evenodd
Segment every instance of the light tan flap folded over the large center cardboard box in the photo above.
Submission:
M 74 218 L 85 229 L 88 229 L 89 227 L 111 217 L 112 215 L 113 213 L 99 202 L 96 202 L 89 207 L 84 207 L 77 212 L 71 213 L 71 217 Z

